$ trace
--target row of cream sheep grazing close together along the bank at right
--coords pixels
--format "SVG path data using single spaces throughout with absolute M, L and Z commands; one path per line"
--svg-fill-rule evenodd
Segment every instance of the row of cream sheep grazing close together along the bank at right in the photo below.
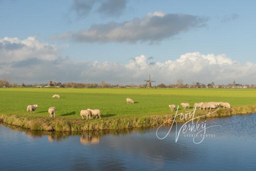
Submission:
M 184 109 L 189 109 L 189 103 L 181 103 L 181 106 Z M 208 109 L 215 109 L 216 107 L 223 107 L 223 108 L 231 108 L 230 104 L 228 102 L 201 102 L 201 103 L 195 103 L 194 109 L 199 108 L 200 110 L 208 110 Z M 174 104 L 169 105 L 169 108 L 173 112 L 176 108 Z

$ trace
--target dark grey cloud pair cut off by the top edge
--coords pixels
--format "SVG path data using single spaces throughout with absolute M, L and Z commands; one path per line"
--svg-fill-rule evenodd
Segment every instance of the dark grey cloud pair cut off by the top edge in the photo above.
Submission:
M 71 10 L 75 11 L 79 18 L 87 17 L 95 10 L 103 16 L 120 16 L 126 8 L 127 0 L 73 0 Z

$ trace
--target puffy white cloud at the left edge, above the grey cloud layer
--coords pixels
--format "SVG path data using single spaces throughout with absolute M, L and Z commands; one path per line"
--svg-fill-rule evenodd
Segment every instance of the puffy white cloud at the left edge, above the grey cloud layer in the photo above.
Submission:
M 59 51 L 54 45 L 41 43 L 35 37 L 28 37 L 24 40 L 9 37 L 0 39 L 0 63 L 30 58 L 55 60 L 58 54 Z

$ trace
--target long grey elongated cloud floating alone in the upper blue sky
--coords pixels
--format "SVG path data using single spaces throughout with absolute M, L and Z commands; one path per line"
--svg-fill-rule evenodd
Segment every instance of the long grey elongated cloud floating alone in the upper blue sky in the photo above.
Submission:
M 71 39 L 78 42 L 158 42 L 181 32 L 206 26 L 205 17 L 188 14 L 148 13 L 141 19 L 122 23 L 93 24 L 87 30 L 69 31 L 54 35 L 55 39 Z

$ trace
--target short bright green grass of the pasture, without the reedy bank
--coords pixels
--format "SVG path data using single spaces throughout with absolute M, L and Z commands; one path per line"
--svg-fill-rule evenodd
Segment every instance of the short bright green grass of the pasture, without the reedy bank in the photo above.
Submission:
M 60 99 L 53 99 L 59 94 Z M 126 98 L 134 100 L 127 104 Z M 133 88 L 0 88 L 0 115 L 25 119 L 49 120 L 48 108 L 56 107 L 56 119 L 72 120 L 79 123 L 82 109 L 100 109 L 102 120 L 134 119 L 149 116 L 173 114 L 168 105 L 223 101 L 231 107 L 251 106 L 256 104 L 255 89 L 133 89 Z M 28 105 L 37 104 L 35 114 L 27 114 Z M 180 110 L 183 112 L 183 109 Z M 101 121 L 102 122 L 102 121 Z

